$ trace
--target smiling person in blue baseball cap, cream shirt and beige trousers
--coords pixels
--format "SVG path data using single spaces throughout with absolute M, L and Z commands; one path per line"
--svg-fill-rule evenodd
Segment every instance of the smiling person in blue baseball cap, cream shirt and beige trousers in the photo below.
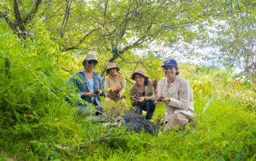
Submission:
M 160 80 L 157 86 L 156 103 L 164 102 L 165 116 L 160 123 L 166 123 L 164 131 L 171 130 L 174 126 L 180 129 L 190 120 L 194 120 L 193 91 L 188 81 L 178 76 L 178 64 L 170 59 L 164 62 L 163 68 L 166 78 Z

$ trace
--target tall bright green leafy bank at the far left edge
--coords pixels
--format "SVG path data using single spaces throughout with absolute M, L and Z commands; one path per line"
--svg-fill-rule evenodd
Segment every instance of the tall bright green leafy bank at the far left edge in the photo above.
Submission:
M 39 48 L 38 41 L 44 40 L 34 39 L 37 49 L 32 43 L 23 49 L 18 42 L 11 43 L 13 35 L 6 33 L 1 39 L 1 117 L 5 126 L 17 120 L 37 120 L 47 114 L 45 102 L 62 100 L 65 91 L 65 82 L 56 73 L 58 66 L 47 51 L 51 44 Z

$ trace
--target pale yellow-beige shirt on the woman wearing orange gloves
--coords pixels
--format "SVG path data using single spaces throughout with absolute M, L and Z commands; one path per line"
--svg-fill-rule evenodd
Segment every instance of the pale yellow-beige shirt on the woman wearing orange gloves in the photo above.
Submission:
M 104 85 L 107 91 L 111 86 L 115 86 L 116 88 L 120 89 L 121 92 L 124 93 L 124 91 L 126 90 L 126 79 L 124 75 L 120 75 L 118 73 L 116 77 L 112 77 L 111 75 L 109 75 L 105 77 Z

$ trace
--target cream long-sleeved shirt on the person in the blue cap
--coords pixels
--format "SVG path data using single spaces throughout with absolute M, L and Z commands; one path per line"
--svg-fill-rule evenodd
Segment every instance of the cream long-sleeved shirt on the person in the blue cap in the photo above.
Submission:
M 176 79 L 169 87 L 167 78 L 164 78 L 159 81 L 157 88 L 158 94 L 156 98 L 160 98 L 160 96 L 170 98 L 170 102 L 164 103 L 165 114 L 183 113 L 193 117 L 193 92 L 185 79 L 176 76 Z

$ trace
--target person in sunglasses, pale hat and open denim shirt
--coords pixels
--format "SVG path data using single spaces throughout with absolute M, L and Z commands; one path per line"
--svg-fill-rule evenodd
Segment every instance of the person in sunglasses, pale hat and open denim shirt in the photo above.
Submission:
M 94 72 L 98 58 L 94 54 L 86 55 L 83 61 L 84 70 L 76 72 L 68 81 L 70 87 L 74 87 L 80 98 L 94 106 L 103 108 L 100 96 L 104 95 L 104 83 L 100 75 Z M 84 104 L 78 104 L 81 112 L 90 113 L 90 109 Z

